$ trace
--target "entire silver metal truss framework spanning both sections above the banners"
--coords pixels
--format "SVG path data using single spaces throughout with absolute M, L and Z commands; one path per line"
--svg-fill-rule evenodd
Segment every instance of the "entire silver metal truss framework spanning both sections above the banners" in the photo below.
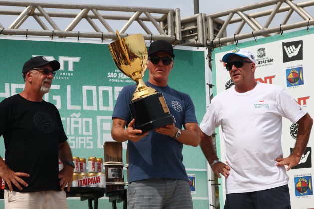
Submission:
M 61 4 L 0 0 L 0 35 L 33 35 L 99 38 L 101 40 L 115 39 L 114 30 L 123 21 L 119 32 L 121 37 L 128 35 L 127 31 L 135 24 L 142 29 L 145 40 L 164 39 L 173 44 L 186 46 L 215 46 L 237 43 L 238 40 L 256 39 L 258 36 L 271 36 L 286 30 L 297 28 L 307 29 L 314 25 L 314 18 L 305 8 L 314 9 L 314 0 L 295 4 L 294 0 L 268 0 L 235 9 L 214 13 L 196 14 L 180 18 L 180 9 L 163 9 L 148 7 L 105 6 L 91 4 Z M 5 9 L 5 6 L 17 8 Z M 312 7 L 311 7 L 312 6 Z M 269 9 L 273 7 L 273 9 Z M 18 10 L 19 9 L 19 10 Z M 263 10 L 254 12 L 255 9 Z M 158 15 L 158 16 L 153 16 Z M 301 20 L 291 21 L 291 16 L 297 14 Z M 11 25 L 1 24 L 4 16 L 17 16 Z M 277 16 L 276 16 L 277 15 Z M 274 27 L 276 21 L 282 18 L 281 24 Z M 283 16 L 283 17 L 282 17 Z M 40 28 L 25 28 L 23 23 L 32 18 Z M 60 22 L 72 20 L 65 29 Z M 85 31 L 75 30 L 78 24 L 85 22 L 89 28 Z M 87 23 L 86 23 L 87 22 Z M 35 26 L 35 25 L 32 25 Z M 24 29 L 20 29 L 20 27 Z M 27 24 L 29 27 L 29 24 Z M 246 27 L 246 28 L 245 28 Z M 232 35 L 227 35 L 235 28 Z M 251 29 L 250 32 L 244 29 Z M 153 31 L 154 30 L 154 31 Z M 91 32 L 92 31 L 92 32 Z M 129 33 L 131 34 L 131 33 Z

